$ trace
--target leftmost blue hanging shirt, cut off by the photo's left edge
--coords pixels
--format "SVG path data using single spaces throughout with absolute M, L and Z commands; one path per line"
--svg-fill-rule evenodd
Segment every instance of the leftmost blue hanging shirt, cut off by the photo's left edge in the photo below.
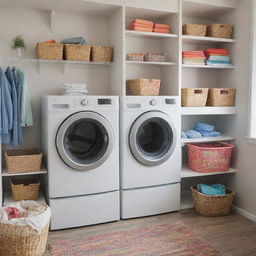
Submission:
M 0 87 L 1 87 L 1 135 L 2 143 L 9 144 L 11 141 L 10 131 L 13 126 L 13 106 L 11 98 L 11 87 L 0 67 Z

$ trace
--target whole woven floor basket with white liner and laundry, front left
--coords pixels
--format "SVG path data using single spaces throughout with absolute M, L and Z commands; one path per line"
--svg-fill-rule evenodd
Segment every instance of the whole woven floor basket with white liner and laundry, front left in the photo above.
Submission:
M 19 201 L 0 208 L 0 255 L 42 256 L 50 217 L 50 208 L 36 201 Z

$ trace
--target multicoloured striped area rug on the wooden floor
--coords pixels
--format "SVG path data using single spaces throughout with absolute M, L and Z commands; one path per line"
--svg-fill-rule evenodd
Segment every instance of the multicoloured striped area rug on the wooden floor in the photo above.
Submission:
M 50 248 L 52 256 L 221 256 L 182 222 L 58 241 Z

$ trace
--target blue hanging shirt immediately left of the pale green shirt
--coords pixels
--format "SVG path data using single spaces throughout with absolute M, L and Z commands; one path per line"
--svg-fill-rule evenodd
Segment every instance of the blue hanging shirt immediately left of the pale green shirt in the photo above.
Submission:
M 18 100 L 18 109 L 17 109 L 17 116 L 18 116 L 18 144 L 21 144 L 23 141 L 23 131 L 21 127 L 21 99 L 22 99 L 22 85 L 20 83 L 20 79 L 17 73 L 17 69 L 15 67 L 12 68 L 12 74 L 14 83 L 16 86 L 17 92 L 17 100 Z

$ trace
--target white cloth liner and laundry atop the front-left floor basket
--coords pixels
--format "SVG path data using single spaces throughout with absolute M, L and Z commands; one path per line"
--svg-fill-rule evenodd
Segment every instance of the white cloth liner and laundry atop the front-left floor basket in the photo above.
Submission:
M 37 232 L 48 224 L 50 217 L 50 208 L 36 201 L 19 201 L 0 208 L 1 224 L 29 225 Z

